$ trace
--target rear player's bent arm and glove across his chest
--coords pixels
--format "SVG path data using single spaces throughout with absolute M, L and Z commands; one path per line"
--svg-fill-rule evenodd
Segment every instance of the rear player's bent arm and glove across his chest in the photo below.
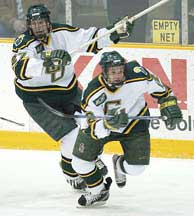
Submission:
M 53 76 L 58 71 L 64 73 L 65 66 L 70 63 L 71 57 L 65 50 L 43 51 L 41 58 L 38 58 L 33 54 L 33 50 L 25 48 L 14 53 L 12 57 L 12 69 L 21 80 L 45 74 Z

